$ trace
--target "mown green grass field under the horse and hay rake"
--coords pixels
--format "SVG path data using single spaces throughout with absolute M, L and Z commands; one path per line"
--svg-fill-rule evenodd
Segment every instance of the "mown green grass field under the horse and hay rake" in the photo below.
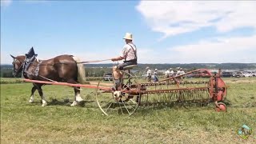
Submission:
M 48 106 L 42 107 L 37 92 L 34 103 L 28 102 L 31 83 L 1 84 L 1 144 L 256 143 L 256 78 L 224 81 L 229 86 L 226 113 L 215 112 L 210 104 L 154 107 L 130 117 L 103 115 L 94 89 L 82 90 L 84 106 L 70 107 L 72 88 L 43 86 Z M 243 124 L 253 129 L 246 140 L 237 134 Z

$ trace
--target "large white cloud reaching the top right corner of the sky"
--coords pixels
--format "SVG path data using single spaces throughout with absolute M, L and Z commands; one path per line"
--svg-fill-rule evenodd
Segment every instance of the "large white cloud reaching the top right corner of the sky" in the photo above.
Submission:
M 166 38 L 214 26 L 227 32 L 249 26 L 256 29 L 254 1 L 142 1 L 136 6 L 150 28 Z

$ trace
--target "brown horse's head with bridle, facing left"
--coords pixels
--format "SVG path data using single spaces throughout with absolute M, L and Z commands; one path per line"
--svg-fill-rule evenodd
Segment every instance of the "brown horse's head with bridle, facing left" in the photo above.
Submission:
M 13 75 L 14 77 L 16 77 L 21 71 L 22 71 L 22 67 L 24 65 L 24 62 L 25 62 L 25 55 L 19 55 L 17 57 L 14 57 L 13 55 L 11 55 L 11 58 L 14 58 L 14 61 L 13 61 Z

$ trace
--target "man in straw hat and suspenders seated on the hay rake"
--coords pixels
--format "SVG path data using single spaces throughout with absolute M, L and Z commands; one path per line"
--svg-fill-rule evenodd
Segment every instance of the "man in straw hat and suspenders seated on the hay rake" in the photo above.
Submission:
M 120 56 L 116 58 L 111 58 L 111 61 L 120 61 L 124 59 L 122 64 L 113 67 L 113 76 L 114 76 L 114 89 L 121 90 L 122 87 L 122 72 L 124 67 L 137 65 L 137 48 L 133 43 L 133 35 L 126 33 L 125 37 L 126 45 L 123 46 L 123 50 Z

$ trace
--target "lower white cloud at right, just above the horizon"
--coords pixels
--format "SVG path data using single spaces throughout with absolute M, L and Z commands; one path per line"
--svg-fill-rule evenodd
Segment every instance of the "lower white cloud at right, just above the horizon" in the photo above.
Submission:
M 170 48 L 177 62 L 256 62 L 256 34 L 250 37 L 217 38 Z M 174 60 L 174 59 L 173 59 Z

